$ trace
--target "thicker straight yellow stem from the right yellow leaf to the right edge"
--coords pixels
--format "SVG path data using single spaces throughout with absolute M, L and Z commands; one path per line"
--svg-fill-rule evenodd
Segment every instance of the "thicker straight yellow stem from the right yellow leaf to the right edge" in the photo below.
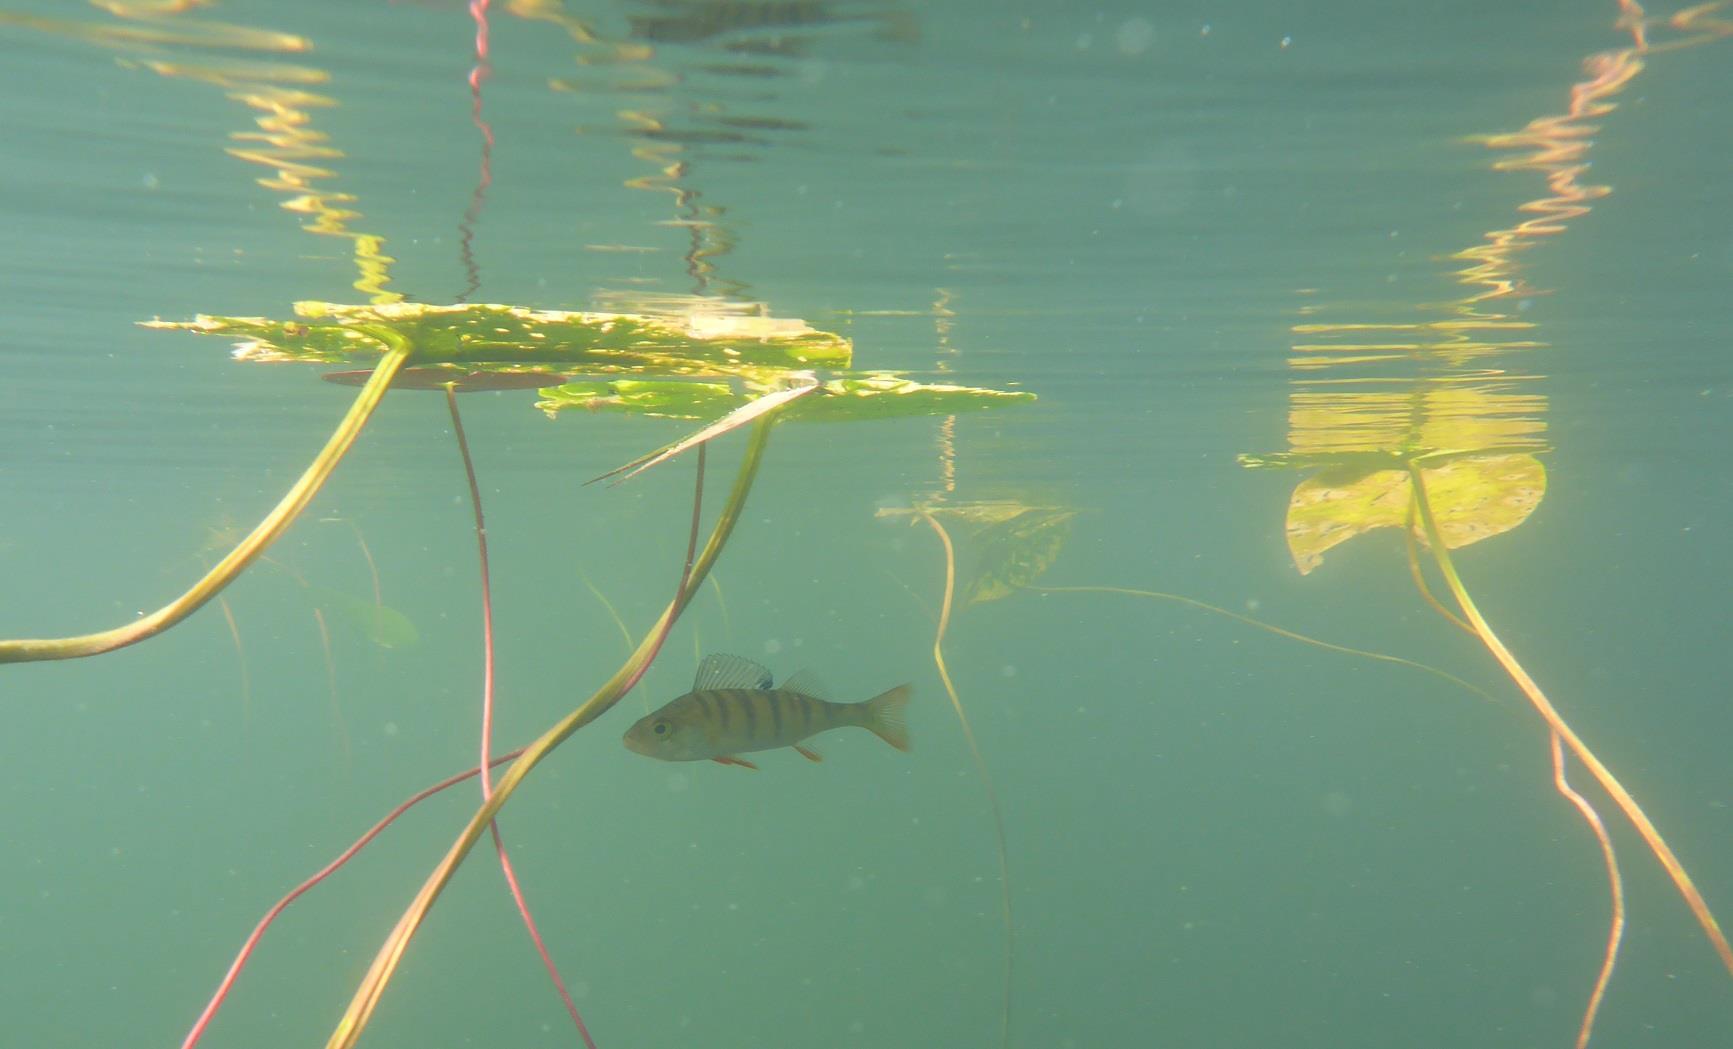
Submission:
M 1636 803 L 1636 798 L 1626 791 L 1624 784 L 1619 782 L 1619 777 L 1615 777 L 1612 770 L 1594 756 L 1594 751 L 1582 742 L 1575 730 L 1570 728 L 1551 700 L 1546 699 L 1546 694 L 1541 692 L 1541 687 L 1529 676 L 1529 671 L 1516 662 L 1516 657 L 1504 647 L 1504 642 L 1492 633 L 1492 626 L 1487 624 L 1487 619 L 1480 614 L 1475 600 L 1468 596 L 1468 588 L 1463 586 L 1463 579 L 1456 572 L 1456 564 L 1451 560 L 1451 550 L 1444 544 L 1444 536 L 1440 534 L 1438 522 L 1433 517 L 1431 503 L 1426 498 L 1426 479 L 1421 475 L 1418 463 L 1409 463 L 1409 477 L 1414 482 L 1416 508 L 1419 510 L 1421 525 L 1426 529 L 1426 543 L 1431 546 L 1431 557 L 1438 562 L 1438 572 L 1444 576 L 1444 581 L 1451 590 L 1451 596 L 1456 598 L 1463 616 L 1470 624 L 1473 624 L 1475 635 L 1480 636 L 1480 642 L 1487 647 L 1492 657 L 1504 668 L 1504 673 L 1516 681 L 1516 687 L 1522 688 L 1525 697 L 1529 697 L 1529 702 L 1534 706 L 1535 713 L 1541 714 L 1541 720 L 1546 721 L 1548 728 L 1556 732 L 1558 737 L 1565 740 L 1565 746 L 1577 756 L 1577 761 L 1582 761 L 1582 765 L 1589 770 L 1589 775 L 1594 777 L 1601 789 L 1612 796 L 1619 810 L 1624 811 L 1626 818 L 1631 820 L 1638 836 L 1648 850 L 1655 853 L 1662 869 L 1667 870 L 1667 877 L 1672 879 L 1672 884 L 1684 900 L 1684 905 L 1691 910 L 1691 917 L 1697 919 L 1697 924 L 1704 929 L 1704 936 L 1709 938 L 1710 947 L 1714 947 L 1716 954 L 1721 957 L 1721 964 L 1730 974 L 1733 974 L 1733 947 L 1728 945 L 1726 935 L 1721 933 L 1721 924 L 1716 922 L 1716 915 L 1709 910 L 1709 903 L 1704 900 L 1702 891 L 1698 891 L 1697 883 L 1691 881 L 1691 876 L 1672 853 L 1672 848 L 1667 846 L 1667 841 L 1648 818 L 1648 813 L 1643 811 L 1643 806 Z

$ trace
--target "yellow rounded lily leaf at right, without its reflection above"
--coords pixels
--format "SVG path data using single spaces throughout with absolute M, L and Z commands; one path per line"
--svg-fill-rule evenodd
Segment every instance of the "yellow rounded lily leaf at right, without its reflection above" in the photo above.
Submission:
M 1546 466 L 1529 454 L 1461 456 L 1423 466 L 1421 475 L 1451 550 L 1515 529 L 1546 496 Z M 1412 498 L 1407 470 L 1336 466 L 1301 480 L 1288 501 L 1295 567 L 1310 574 L 1333 546 L 1405 527 Z

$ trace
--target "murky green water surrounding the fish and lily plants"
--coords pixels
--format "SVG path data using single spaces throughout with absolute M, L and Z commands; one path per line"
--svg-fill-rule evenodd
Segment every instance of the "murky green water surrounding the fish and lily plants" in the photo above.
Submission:
M 1548 173 L 1475 137 L 1558 118 L 1632 47 L 1613 3 L 496 5 L 478 302 L 728 293 L 854 340 L 856 364 L 1036 392 L 960 416 L 951 503 L 1080 510 L 1050 584 L 946 645 L 1003 805 L 1022 1047 L 1563 1047 L 1606 928 L 1594 839 L 1546 732 L 1416 595 L 1383 529 L 1296 572 L 1296 324 L 1447 316 L 1452 255 L 1539 212 Z M 1650 52 L 1582 118 L 1579 182 L 1492 303 L 1544 347 L 1482 361 L 1539 397 L 1546 496 L 1457 551 L 1487 617 L 1733 914 L 1733 40 L 1646 12 Z M 125 622 L 180 593 L 296 477 L 354 395 L 303 366 L 133 323 L 360 302 L 310 236 L 232 62 L 314 69 L 307 158 L 385 238 L 392 288 L 449 302 L 478 180 L 458 3 L 0 12 L 0 635 Z M 1721 12 L 1724 17 L 1726 12 Z M 778 24 L 778 19 L 787 24 Z M 187 24 L 312 50 L 116 40 Z M 90 29 L 99 28 L 99 29 Z M 95 33 L 95 36 L 92 36 Z M 1631 55 L 1626 55 L 1631 61 Z M 220 62 L 222 76 L 199 75 Z M 558 88 L 551 81 L 567 81 Z M 237 87 L 239 85 L 239 87 Z M 660 128 L 646 134 L 645 128 Z M 256 146 L 256 142 L 255 142 Z M 679 199 L 645 189 L 683 165 Z M 636 182 L 638 186 L 634 186 Z M 690 218 L 726 241 L 688 272 Z M 633 250 L 620 250 L 620 248 Z M 712 244 L 714 246 L 714 244 Z M 936 307 L 938 303 L 938 307 Z M 1343 378 L 1352 375 L 1345 371 Z M 667 600 L 691 463 L 587 477 L 690 430 L 464 401 L 494 550 L 501 746 L 586 697 Z M 475 759 L 473 536 L 437 395 L 386 399 L 307 518 L 227 600 L 92 661 L 0 669 L 5 1046 L 172 1046 L 256 915 L 414 789 Z M 738 458 L 712 456 L 712 506 Z M 607 1047 L 996 1046 L 988 798 L 931 661 L 934 536 L 877 518 L 941 487 L 938 420 L 782 428 L 707 591 L 622 709 L 503 818 Z M 317 590 L 383 598 L 381 648 Z M 232 539 L 232 534 L 230 534 Z M 965 551 L 967 553 L 967 551 Z M 757 775 L 619 746 L 698 652 L 844 699 L 913 681 L 917 747 L 821 740 Z M 347 740 L 347 742 L 345 742 Z M 1733 981 L 1589 777 L 1631 907 L 1596 1046 L 1733 1044 Z M 407 817 L 293 909 L 208 1046 L 321 1044 L 475 803 Z M 367 1046 L 561 1046 L 572 1030 L 492 858 L 435 910 Z

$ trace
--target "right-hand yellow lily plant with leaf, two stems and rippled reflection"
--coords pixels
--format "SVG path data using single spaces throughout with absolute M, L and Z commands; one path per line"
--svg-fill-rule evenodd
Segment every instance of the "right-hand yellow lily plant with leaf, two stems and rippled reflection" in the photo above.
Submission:
M 1733 947 L 1683 860 L 1631 791 L 1572 728 L 1511 648 L 1492 629 L 1464 583 L 1452 551 L 1520 529 L 1548 491 L 1541 454 L 1546 442 L 1542 376 L 1509 366 L 1546 343 L 1537 323 L 1506 312 L 1506 302 L 1534 295 L 1518 255 L 1567 232 L 1612 191 L 1587 180 L 1594 144 L 1591 120 L 1608 116 L 1650 55 L 1733 35 L 1716 17 L 1721 3 L 1683 10 L 1652 23 L 1624 0 L 1619 28 L 1631 43 L 1582 61 L 1582 80 L 1568 92 L 1568 109 L 1541 116 L 1520 132 L 1485 135 L 1492 149 L 1518 151 L 1496 170 L 1537 172 L 1546 196 L 1522 205 L 1532 215 L 1494 229 L 1482 243 L 1451 255 L 1463 264 L 1451 277 L 1468 293 L 1454 302 L 1402 303 L 1407 316 L 1326 321 L 1307 305 L 1289 364 L 1288 451 L 1243 454 L 1248 468 L 1300 470 L 1305 477 L 1288 499 L 1286 539 L 1295 567 L 1312 574 L 1336 546 L 1400 529 L 1407 574 L 1421 598 L 1492 655 L 1511 685 L 1548 728 L 1553 785 L 1584 818 L 1601 853 L 1610 891 L 1605 950 L 1577 1028 L 1577 1049 L 1589 1044 L 1624 938 L 1626 898 L 1617 853 L 1594 805 L 1568 782 L 1567 758 L 1580 763 L 1612 799 L 1665 870 L 1704 938 L 1733 976 Z M 1655 40 L 1667 33 L 1665 42 Z M 1421 319 L 1412 319 L 1412 312 Z M 1437 314 L 1444 314 L 1438 317 Z M 1454 605 L 1431 591 L 1423 562 Z

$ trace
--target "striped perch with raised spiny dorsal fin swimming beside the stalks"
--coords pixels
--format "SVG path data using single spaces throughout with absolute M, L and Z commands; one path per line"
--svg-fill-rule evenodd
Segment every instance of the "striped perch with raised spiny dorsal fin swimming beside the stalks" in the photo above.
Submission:
M 705 655 L 691 692 L 639 718 L 626 732 L 626 749 L 660 761 L 709 759 L 757 768 L 738 754 L 794 747 L 809 761 L 823 761 L 801 740 L 854 725 L 906 751 L 908 694 L 908 685 L 898 685 L 866 702 L 830 702 L 804 671 L 778 688 L 769 671 L 750 659 Z

